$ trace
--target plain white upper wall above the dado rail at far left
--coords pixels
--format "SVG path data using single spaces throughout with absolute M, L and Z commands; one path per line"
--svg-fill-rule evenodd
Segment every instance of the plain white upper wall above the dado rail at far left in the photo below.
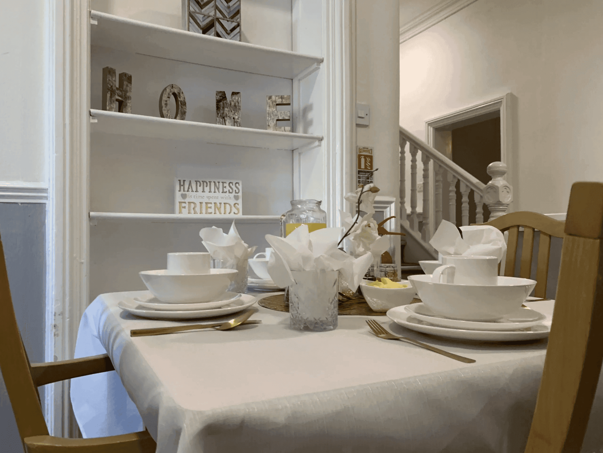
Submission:
M 45 4 L 2 2 L 0 13 L 0 184 L 46 185 Z

